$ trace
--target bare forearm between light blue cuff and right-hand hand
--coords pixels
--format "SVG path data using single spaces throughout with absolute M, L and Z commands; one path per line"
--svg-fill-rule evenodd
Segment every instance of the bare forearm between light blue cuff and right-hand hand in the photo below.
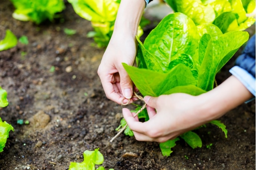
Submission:
M 230 76 L 221 85 L 198 96 L 203 101 L 203 119 L 214 120 L 253 97 L 237 79 Z

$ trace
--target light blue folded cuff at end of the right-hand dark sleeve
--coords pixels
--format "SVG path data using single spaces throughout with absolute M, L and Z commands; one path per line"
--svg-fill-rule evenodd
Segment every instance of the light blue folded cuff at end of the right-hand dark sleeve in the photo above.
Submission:
M 239 66 L 234 66 L 230 69 L 230 73 L 235 76 L 254 96 L 256 95 L 255 92 L 255 77 L 253 77 L 249 72 L 242 69 Z M 246 101 L 245 103 L 248 103 L 249 101 L 254 100 L 254 98 Z

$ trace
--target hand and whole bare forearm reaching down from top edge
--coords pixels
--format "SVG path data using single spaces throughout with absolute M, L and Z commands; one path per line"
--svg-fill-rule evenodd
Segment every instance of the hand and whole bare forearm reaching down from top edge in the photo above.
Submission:
M 107 98 L 118 104 L 135 100 L 133 83 L 122 63 L 133 65 L 136 56 L 138 25 L 145 8 L 144 0 L 122 0 L 116 16 L 113 35 L 98 69 Z M 136 89 L 135 89 L 136 91 Z M 124 98 L 124 101 L 122 101 Z

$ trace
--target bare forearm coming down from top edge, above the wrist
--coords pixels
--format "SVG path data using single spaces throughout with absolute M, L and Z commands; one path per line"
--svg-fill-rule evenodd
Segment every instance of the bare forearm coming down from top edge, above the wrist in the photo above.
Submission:
M 128 34 L 135 37 L 145 5 L 144 0 L 121 0 L 113 34 Z

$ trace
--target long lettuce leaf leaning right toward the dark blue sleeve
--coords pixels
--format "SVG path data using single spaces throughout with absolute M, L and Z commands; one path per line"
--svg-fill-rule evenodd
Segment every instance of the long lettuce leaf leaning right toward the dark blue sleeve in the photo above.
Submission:
M 248 39 L 248 32 L 243 31 L 231 31 L 219 36 L 216 40 L 210 39 L 205 53 L 202 51 L 199 53 L 204 56 L 199 56 L 203 59 L 198 70 L 196 85 L 206 91 L 211 90 L 216 74 Z

